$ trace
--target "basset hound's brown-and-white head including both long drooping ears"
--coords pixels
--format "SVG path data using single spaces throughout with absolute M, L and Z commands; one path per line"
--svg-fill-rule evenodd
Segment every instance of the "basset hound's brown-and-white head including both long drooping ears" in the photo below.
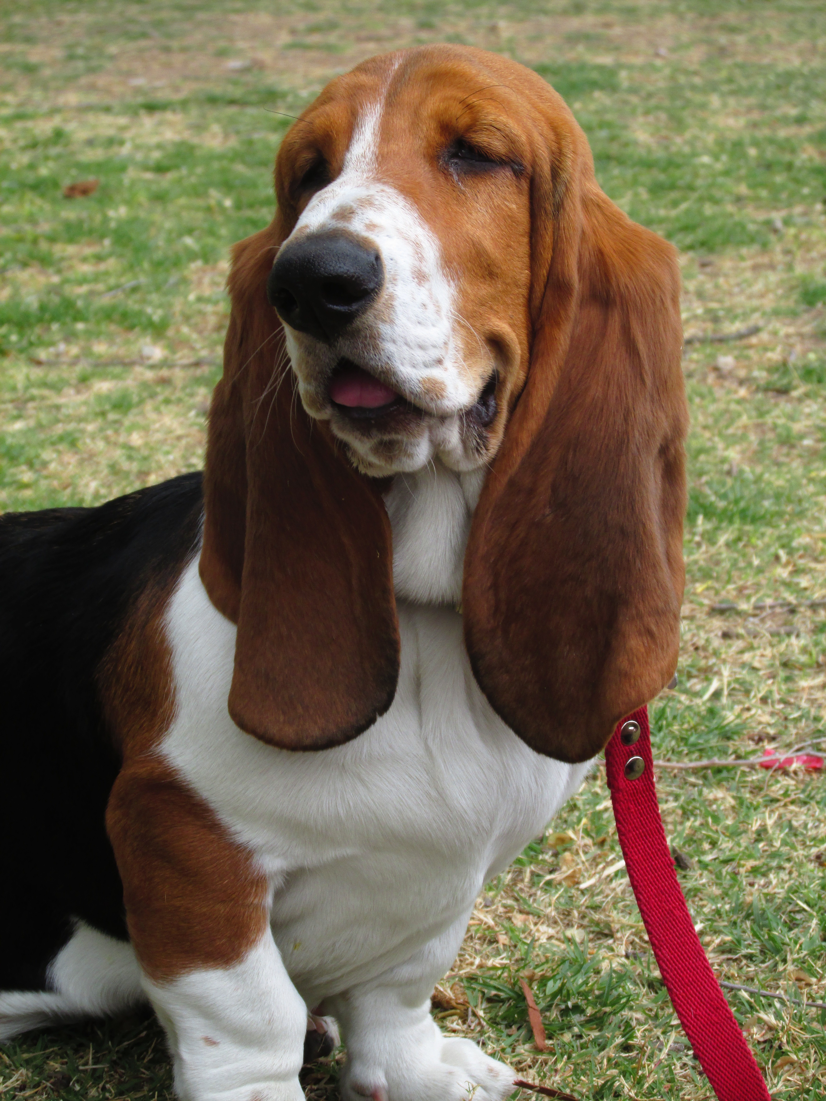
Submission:
M 388 478 L 487 471 L 465 639 L 494 710 L 582 761 L 677 657 L 673 249 L 602 194 L 539 76 L 457 46 L 377 57 L 286 134 L 235 249 L 200 573 L 238 624 L 229 709 L 289 749 L 390 706 Z M 282 324 L 283 323 L 283 324 Z

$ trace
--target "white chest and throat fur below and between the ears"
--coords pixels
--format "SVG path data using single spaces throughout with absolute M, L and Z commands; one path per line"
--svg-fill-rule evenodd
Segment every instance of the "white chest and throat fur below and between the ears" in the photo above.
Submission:
M 444 469 L 393 487 L 400 598 L 458 598 L 475 490 Z M 273 885 L 276 944 L 309 1005 L 463 928 L 485 881 L 588 768 L 540 756 L 496 716 L 452 607 L 400 599 L 399 623 L 388 713 L 346 745 L 296 753 L 230 720 L 235 628 L 209 602 L 197 563 L 169 611 L 177 717 L 163 752 L 258 855 Z

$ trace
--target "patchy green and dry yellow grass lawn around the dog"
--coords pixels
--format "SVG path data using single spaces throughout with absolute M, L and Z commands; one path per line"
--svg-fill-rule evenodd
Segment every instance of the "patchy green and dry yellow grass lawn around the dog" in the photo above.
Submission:
M 227 249 L 271 216 L 284 115 L 382 50 L 498 50 L 554 83 L 606 190 L 682 250 L 685 328 L 700 338 L 684 360 L 688 580 L 678 687 L 653 707 L 655 756 L 826 739 L 820 3 L 145 0 L 115 20 L 102 0 L 18 0 L 0 20 L 0 508 L 97 503 L 197 468 Z M 91 177 L 93 195 L 63 198 Z M 747 339 L 702 339 L 753 325 Z M 659 786 L 718 975 L 826 1001 L 820 776 L 661 770 Z M 583 1101 L 706 1101 L 618 860 L 598 770 L 480 898 L 434 1012 Z M 548 1054 L 534 1048 L 520 977 Z M 728 996 L 773 1097 L 823 1097 L 823 1011 Z M 308 1098 L 336 1095 L 340 1059 L 306 1070 Z M 171 1089 L 149 1017 L 0 1051 L 9 1097 Z

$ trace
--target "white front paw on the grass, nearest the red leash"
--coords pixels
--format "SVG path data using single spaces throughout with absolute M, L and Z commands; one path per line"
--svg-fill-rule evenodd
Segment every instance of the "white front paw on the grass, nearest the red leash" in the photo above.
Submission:
M 425 1056 L 405 1050 L 379 1067 L 356 1059 L 345 1069 L 343 1101 L 504 1101 L 515 1073 L 469 1039 L 442 1039 Z

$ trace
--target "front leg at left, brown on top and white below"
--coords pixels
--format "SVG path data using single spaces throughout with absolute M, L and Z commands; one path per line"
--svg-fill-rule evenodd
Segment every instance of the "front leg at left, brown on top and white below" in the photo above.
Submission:
M 307 1012 L 250 853 L 157 763 L 121 773 L 107 827 L 144 989 L 185 1101 L 302 1101 Z

